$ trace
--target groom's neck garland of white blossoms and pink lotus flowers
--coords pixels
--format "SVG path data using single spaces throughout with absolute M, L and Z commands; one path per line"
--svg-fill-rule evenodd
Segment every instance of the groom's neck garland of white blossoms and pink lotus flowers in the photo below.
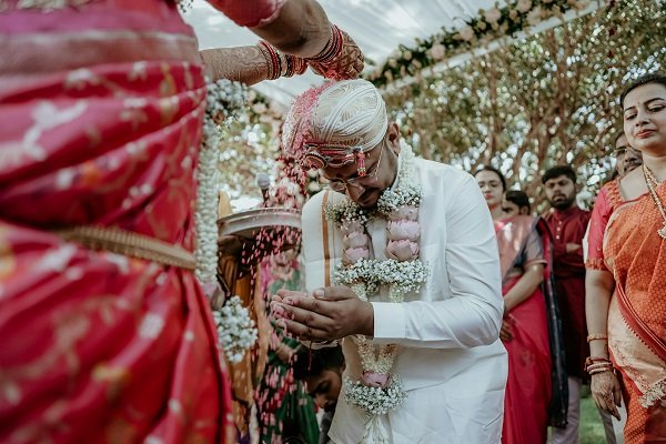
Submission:
M 400 169 L 394 189 L 384 190 L 376 211 L 369 212 L 351 200 L 329 203 L 326 218 L 339 224 L 344 238 L 344 256 L 333 272 L 337 285 L 346 285 L 362 301 L 389 286 L 390 301 L 401 303 L 406 293 L 418 291 L 427 280 L 428 270 L 418 259 L 420 225 L 417 222 L 421 186 L 414 175 L 414 153 L 402 145 Z M 370 259 L 366 224 L 381 215 L 389 220 L 386 260 Z M 366 422 L 361 443 L 387 443 L 381 416 L 396 408 L 406 398 L 400 376 L 391 374 L 397 346 L 375 346 L 364 335 L 355 335 L 363 375 L 361 381 L 345 379 L 345 398 L 365 411 Z

